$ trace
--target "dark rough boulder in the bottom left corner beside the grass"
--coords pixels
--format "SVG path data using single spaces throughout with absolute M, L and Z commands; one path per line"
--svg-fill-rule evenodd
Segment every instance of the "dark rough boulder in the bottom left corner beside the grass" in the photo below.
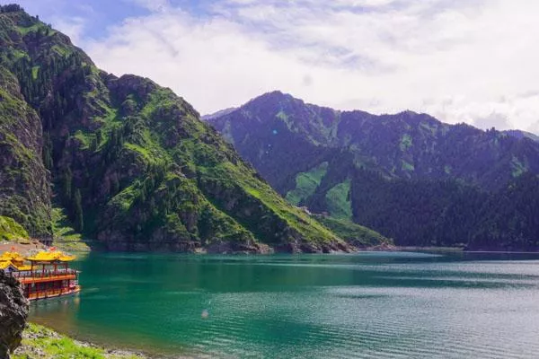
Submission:
M 0 270 L 0 358 L 21 344 L 22 330 L 28 318 L 28 300 L 19 282 Z

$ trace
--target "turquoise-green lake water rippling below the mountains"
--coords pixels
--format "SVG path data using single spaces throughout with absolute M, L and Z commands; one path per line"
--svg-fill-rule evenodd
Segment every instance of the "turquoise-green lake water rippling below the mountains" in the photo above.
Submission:
M 536 358 L 538 259 L 93 253 L 31 320 L 172 357 Z

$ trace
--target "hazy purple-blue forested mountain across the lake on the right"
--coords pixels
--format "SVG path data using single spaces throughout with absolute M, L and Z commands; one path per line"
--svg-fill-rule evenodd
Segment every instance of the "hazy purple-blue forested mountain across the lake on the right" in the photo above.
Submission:
M 340 111 L 282 92 L 208 123 L 289 202 L 315 213 L 402 245 L 536 248 L 539 198 L 507 200 L 538 182 L 539 143 L 528 136 L 412 111 Z M 501 217 L 497 203 L 507 206 Z

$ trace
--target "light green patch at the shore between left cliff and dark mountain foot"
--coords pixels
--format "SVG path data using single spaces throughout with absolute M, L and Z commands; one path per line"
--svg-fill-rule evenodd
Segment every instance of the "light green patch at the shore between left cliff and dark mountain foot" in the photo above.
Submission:
M 83 241 L 81 233 L 76 232 L 67 219 L 64 208 L 52 208 L 53 244 L 60 250 L 88 251 L 90 247 Z

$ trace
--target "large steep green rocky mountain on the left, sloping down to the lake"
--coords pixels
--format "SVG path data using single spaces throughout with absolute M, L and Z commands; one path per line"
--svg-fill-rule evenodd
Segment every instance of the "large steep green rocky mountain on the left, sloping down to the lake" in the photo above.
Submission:
M 0 7 L 0 215 L 32 237 L 52 206 L 109 250 L 349 250 L 147 78 L 98 69 L 18 5 Z

